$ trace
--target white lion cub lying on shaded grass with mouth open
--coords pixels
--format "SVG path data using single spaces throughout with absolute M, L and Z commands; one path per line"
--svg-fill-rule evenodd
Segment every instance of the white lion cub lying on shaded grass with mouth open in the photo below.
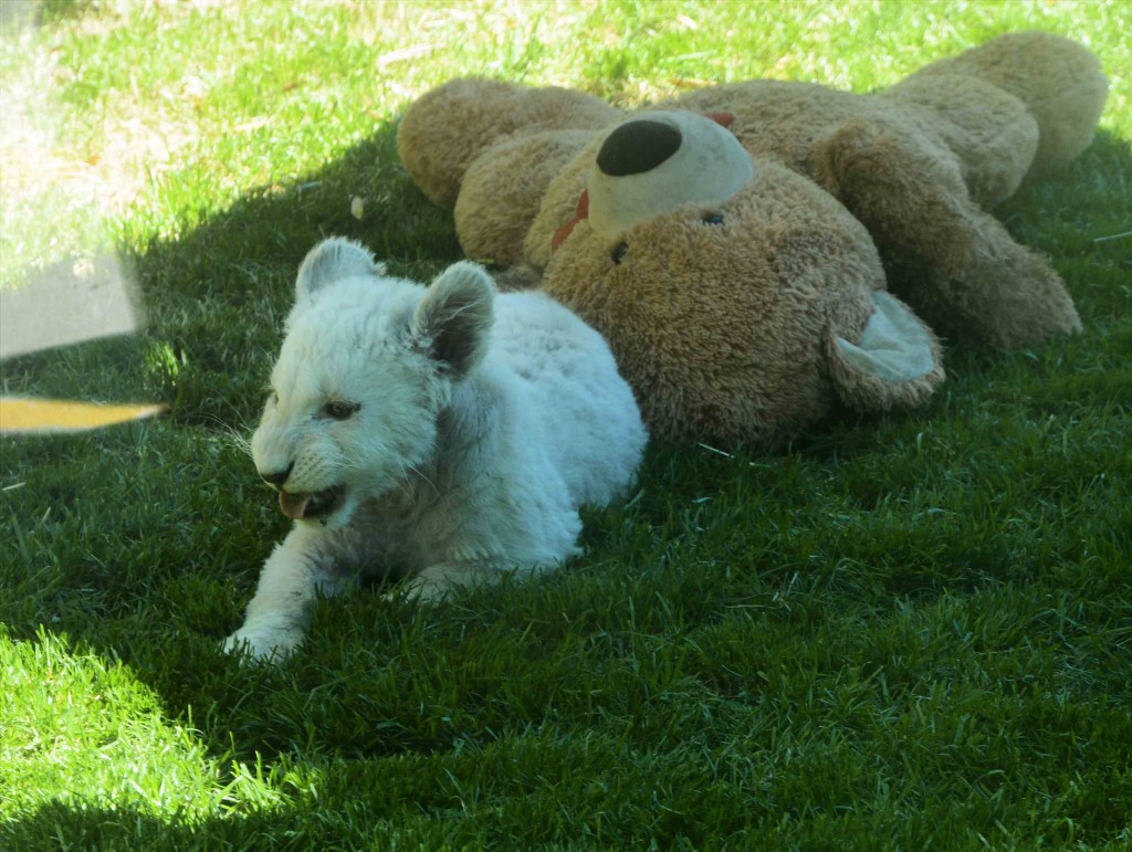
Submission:
M 497 295 L 477 265 L 431 286 L 326 240 L 297 300 L 251 439 L 294 527 L 225 643 L 285 656 L 318 592 L 359 573 L 441 597 L 578 552 L 578 507 L 632 485 L 646 442 L 602 337 L 541 293 Z

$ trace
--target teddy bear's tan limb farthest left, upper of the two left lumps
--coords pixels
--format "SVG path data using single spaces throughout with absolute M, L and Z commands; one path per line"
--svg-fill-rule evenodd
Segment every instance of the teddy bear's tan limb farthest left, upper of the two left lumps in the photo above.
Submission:
M 520 130 L 595 129 L 618 115 L 582 92 L 456 79 L 409 107 L 397 127 L 397 153 L 424 195 L 452 207 L 469 165 L 500 138 Z

